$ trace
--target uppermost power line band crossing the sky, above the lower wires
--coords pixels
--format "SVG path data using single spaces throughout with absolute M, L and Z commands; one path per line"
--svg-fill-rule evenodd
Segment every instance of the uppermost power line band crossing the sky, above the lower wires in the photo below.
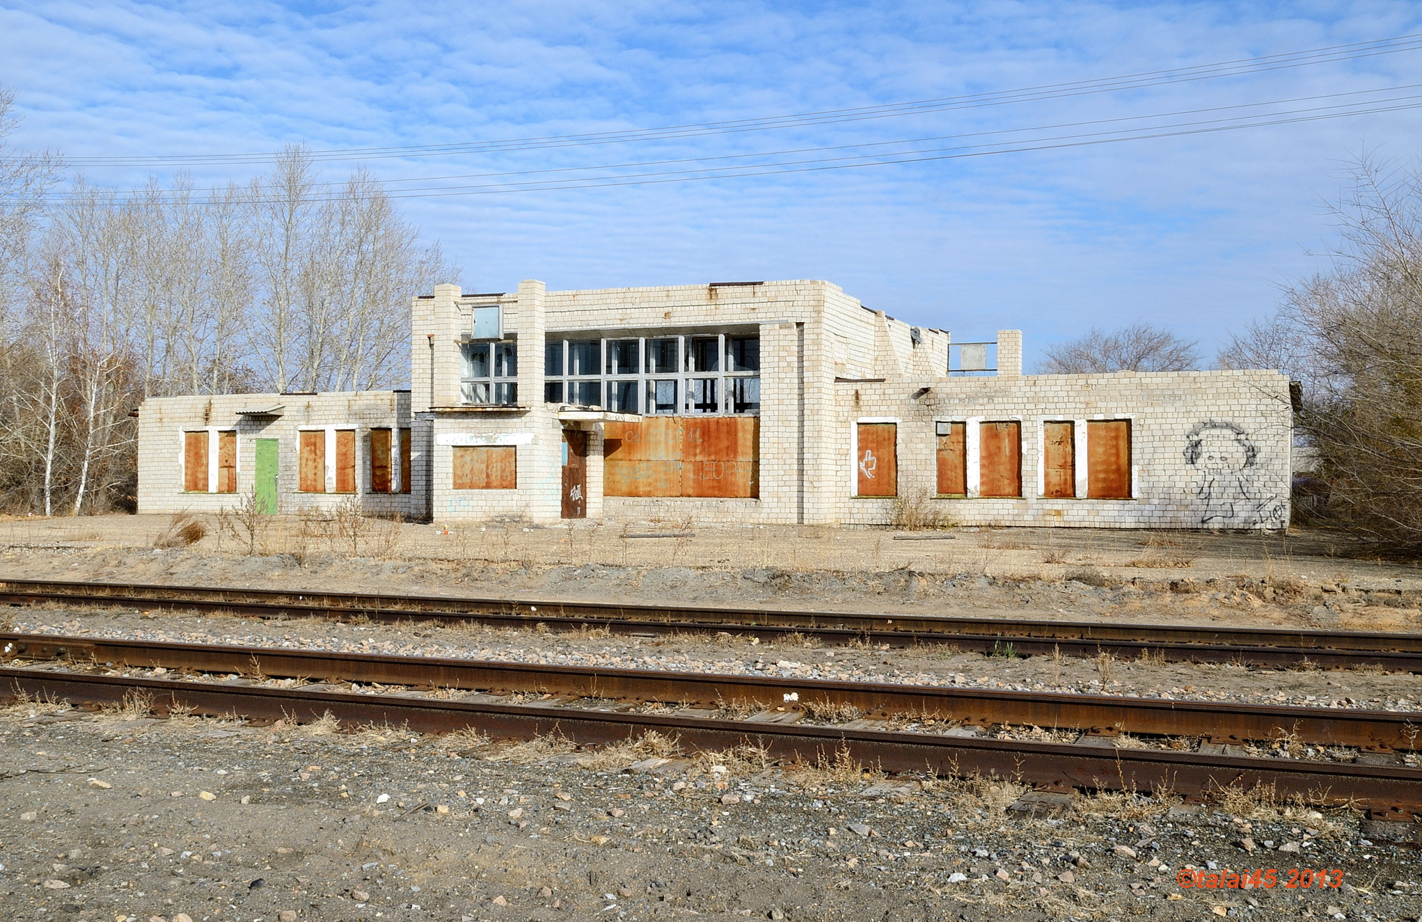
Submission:
M 1305 67 L 1314 64 L 1328 64 L 1352 61 L 1382 54 L 1398 54 L 1422 48 L 1422 33 L 1379 38 L 1374 41 L 1351 43 L 1344 45 L 1330 45 L 1325 48 L 1311 48 L 1304 51 L 1290 51 L 1216 64 L 1200 64 L 1185 68 L 1170 68 L 1160 71 L 1146 71 L 1140 74 L 1125 74 L 1085 81 L 1071 81 L 1028 87 L 1008 91 L 990 91 L 936 99 L 919 99 L 912 102 L 892 102 L 873 107 L 857 107 L 845 109 L 828 109 L 822 112 L 803 112 L 796 115 L 772 115 L 764 118 L 731 119 L 720 122 L 701 122 L 691 125 L 671 125 L 664 128 L 626 129 L 610 132 L 593 132 L 580 135 L 550 135 L 542 138 L 515 138 L 499 141 L 476 141 L 465 143 L 445 145 L 407 145 L 384 148 L 343 148 L 330 151 L 313 151 L 313 161 L 361 161 L 361 159 L 390 159 L 412 156 L 451 156 L 456 153 L 493 153 L 516 152 L 532 149 L 547 149 L 562 146 L 627 143 L 637 141 L 671 141 L 710 134 L 735 134 L 749 131 L 769 131 L 778 128 L 802 128 L 812 125 L 826 125 L 838 122 L 899 118 L 904 115 L 920 115 L 964 108 L 981 108 L 990 105 L 1007 105 L 1017 102 L 1034 102 L 1045 99 L 1061 99 L 1079 95 L 1119 92 L 1123 90 L 1139 90 L 1177 82 L 1200 80 L 1216 80 L 1221 77 L 1239 77 L 1247 74 L 1268 72 L 1276 70 Z M 75 158 L 70 163 L 74 166 L 213 166 L 237 163 L 264 163 L 279 156 L 274 152 L 264 153 L 195 153 L 195 155 L 134 155 L 107 158 Z

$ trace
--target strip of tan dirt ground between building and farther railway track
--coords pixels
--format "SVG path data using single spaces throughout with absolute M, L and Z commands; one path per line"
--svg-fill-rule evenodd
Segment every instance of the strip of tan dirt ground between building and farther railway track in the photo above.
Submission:
M 1313 531 L 198 521 L 0 521 L 0 577 L 1422 631 L 1422 567 Z

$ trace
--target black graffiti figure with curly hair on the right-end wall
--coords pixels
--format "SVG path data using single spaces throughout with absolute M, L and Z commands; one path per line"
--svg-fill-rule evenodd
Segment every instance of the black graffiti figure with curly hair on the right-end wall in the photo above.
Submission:
M 1233 422 L 1202 422 L 1185 439 L 1185 460 L 1194 467 L 1194 494 L 1203 528 L 1283 528 L 1285 503 L 1261 487 L 1258 448 Z

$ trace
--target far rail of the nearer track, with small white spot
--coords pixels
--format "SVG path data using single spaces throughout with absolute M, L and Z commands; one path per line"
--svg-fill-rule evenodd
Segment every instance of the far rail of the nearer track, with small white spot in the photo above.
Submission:
M 0 634 L 0 656 L 90 661 L 195 672 L 324 679 L 479 692 L 667 702 L 684 707 L 755 705 L 853 706 L 866 715 L 953 720 L 971 726 L 1038 726 L 1095 734 L 1145 733 L 1243 743 L 1290 736 L 1320 746 L 1375 753 L 1418 749 L 1422 713 L 1169 700 L 1119 695 L 1059 695 L 887 682 L 849 682 L 653 669 L 603 669 L 317 649 L 172 644 L 94 636 Z M 788 715 L 793 716 L 793 715 Z

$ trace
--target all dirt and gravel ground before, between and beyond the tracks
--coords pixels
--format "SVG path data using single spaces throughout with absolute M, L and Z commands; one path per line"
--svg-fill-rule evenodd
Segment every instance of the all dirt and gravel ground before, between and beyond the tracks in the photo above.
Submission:
M 240 528 L 202 524 L 189 544 L 171 540 L 166 516 L 4 521 L 0 577 L 1422 629 L 1416 567 L 1342 557 L 1347 547 L 1321 534 L 954 530 L 919 540 L 685 523 L 367 523 L 340 534 L 277 519 L 249 547 Z M 13 608 L 9 621 L 58 634 L 1342 707 L 1416 709 L 1419 698 L 1415 676 L 1362 671 L 51 607 Z M 559 740 L 334 730 L 156 720 L 142 702 L 101 715 L 11 706 L 0 713 L 0 909 L 84 922 L 1422 916 L 1416 848 L 1369 840 L 1355 811 L 1274 803 L 1267 791 L 1223 791 L 1203 808 L 1076 796 L 1064 815 L 1030 817 L 1008 810 L 1024 788 L 1004 779 L 776 767 L 755 752 L 678 753 L 656 739 L 579 753 Z M 1273 888 L 1185 889 L 1182 868 L 1283 874 Z M 1341 871 L 1341 886 L 1285 888 L 1291 868 Z

